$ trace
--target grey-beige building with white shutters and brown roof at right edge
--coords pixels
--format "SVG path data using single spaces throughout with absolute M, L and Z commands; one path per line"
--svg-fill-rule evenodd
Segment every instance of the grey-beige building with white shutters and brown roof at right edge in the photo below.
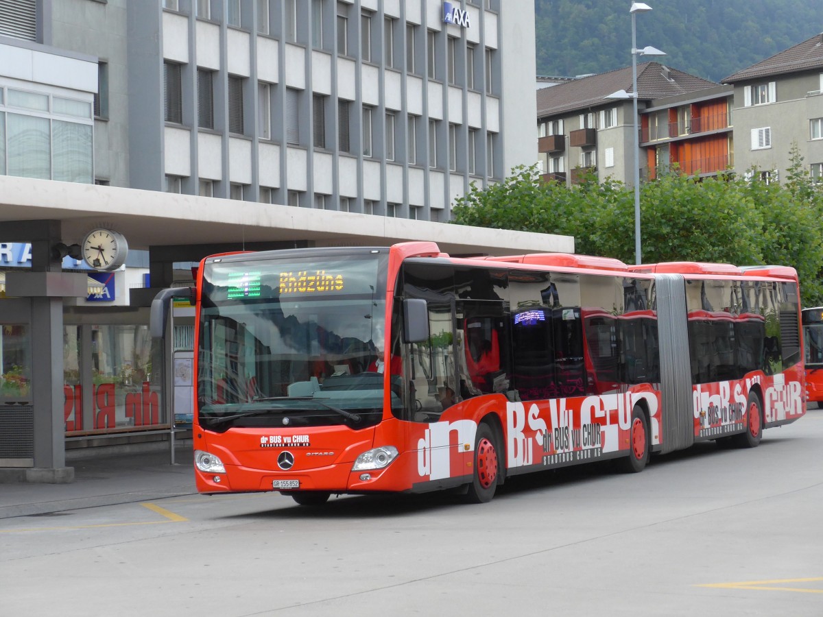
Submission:
M 723 80 L 734 86 L 735 169 L 780 181 L 794 144 L 823 179 L 823 35 L 776 53 Z

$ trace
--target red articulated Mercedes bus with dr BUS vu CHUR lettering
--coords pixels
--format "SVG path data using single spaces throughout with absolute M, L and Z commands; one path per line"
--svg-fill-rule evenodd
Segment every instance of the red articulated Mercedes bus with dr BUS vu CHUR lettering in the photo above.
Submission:
M 165 290 L 152 305 L 162 336 Z M 194 449 L 205 494 L 455 489 L 699 441 L 742 447 L 805 413 L 797 274 L 429 242 L 204 259 Z

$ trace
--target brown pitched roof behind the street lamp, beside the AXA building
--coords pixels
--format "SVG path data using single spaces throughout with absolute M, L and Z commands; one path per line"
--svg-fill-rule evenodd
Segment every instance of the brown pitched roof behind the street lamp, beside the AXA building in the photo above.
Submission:
M 684 95 L 714 86 L 718 86 L 714 81 L 695 77 L 661 63 L 637 65 L 637 91 L 640 100 Z M 631 67 L 537 90 L 537 115 L 549 116 L 602 105 L 608 102 L 606 97 L 617 90 L 631 92 Z

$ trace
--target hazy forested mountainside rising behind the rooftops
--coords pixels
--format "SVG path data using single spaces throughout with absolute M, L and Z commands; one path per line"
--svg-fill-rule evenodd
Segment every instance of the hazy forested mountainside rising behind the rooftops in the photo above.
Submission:
M 535 0 L 537 72 L 572 77 L 628 66 L 630 2 Z M 636 19 L 639 47 L 663 62 L 720 81 L 820 34 L 820 0 L 651 2 Z

